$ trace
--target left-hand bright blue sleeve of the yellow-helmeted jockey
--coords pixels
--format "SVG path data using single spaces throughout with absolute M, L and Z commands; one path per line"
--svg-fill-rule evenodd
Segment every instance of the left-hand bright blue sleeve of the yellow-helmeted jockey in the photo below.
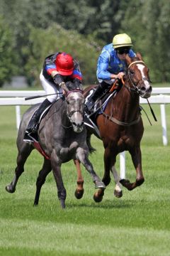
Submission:
M 111 73 L 108 72 L 110 54 L 108 50 L 103 49 L 98 58 L 97 78 L 101 80 L 111 80 Z

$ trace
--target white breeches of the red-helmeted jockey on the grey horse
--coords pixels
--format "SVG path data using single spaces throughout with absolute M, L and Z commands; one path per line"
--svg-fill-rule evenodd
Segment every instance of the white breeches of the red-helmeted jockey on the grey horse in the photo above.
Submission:
M 52 82 L 49 82 L 47 79 L 45 79 L 45 77 L 42 75 L 42 71 L 40 73 L 40 81 L 46 94 L 49 95 L 47 96 L 47 100 L 49 100 L 50 102 L 55 102 L 55 100 L 62 97 L 62 88 L 59 85 L 54 85 Z M 54 93 L 56 94 L 50 95 Z

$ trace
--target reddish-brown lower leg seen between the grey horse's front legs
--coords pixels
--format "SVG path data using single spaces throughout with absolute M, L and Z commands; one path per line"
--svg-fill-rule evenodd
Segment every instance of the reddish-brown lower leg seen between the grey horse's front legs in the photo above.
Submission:
M 80 167 L 80 162 L 79 160 L 74 160 L 74 164 L 77 167 L 77 189 L 74 193 L 74 195 L 76 196 L 77 199 L 82 198 L 83 194 L 84 194 L 84 178 L 81 175 L 81 167 Z

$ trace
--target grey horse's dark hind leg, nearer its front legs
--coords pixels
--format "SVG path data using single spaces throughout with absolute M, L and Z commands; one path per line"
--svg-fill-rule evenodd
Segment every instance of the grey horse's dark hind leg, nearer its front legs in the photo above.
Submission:
M 42 166 L 42 169 L 39 172 L 37 182 L 36 182 L 36 193 L 35 193 L 35 199 L 34 199 L 34 206 L 38 206 L 39 198 L 40 198 L 40 190 L 42 188 L 42 185 L 45 183 L 45 178 L 52 170 L 51 168 L 51 162 L 50 160 L 47 160 L 44 158 L 44 164 Z

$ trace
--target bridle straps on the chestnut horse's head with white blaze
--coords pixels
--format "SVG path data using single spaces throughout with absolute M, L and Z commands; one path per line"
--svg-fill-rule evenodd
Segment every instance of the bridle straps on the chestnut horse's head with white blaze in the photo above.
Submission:
M 128 66 L 128 80 L 130 81 L 130 83 L 132 85 L 132 87 L 128 87 L 128 90 L 140 95 L 141 89 L 139 89 L 137 87 L 137 85 L 139 85 L 144 80 L 147 80 L 148 82 L 150 82 L 150 81 L 148 78 L 144 77 L 144 78 L 140 79 L 138 82 L 134 82 L 134 80 L 132 79 L 132 74 L 130 74 L 130 67 L 134 64 L 142 64 L 145 66 L 145 63 L 142 60 L 135 60 L 132 63 L 130 63 L 130 65 Z M 127 86 L 125 86 L 125 87 L 127 87 Z

